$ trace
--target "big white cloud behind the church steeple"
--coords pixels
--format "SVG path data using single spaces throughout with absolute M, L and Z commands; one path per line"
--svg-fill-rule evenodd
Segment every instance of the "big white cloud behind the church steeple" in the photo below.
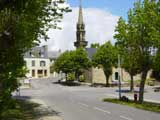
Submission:
M 114 42 L 114 29 L 117 24 L 118 16 L 97 9 L 83 9 L 84 22 L 86 25 L 86 41 L 91 43 L 103 44 L 108 40 Z M 50 39 L 41 44 L 47 44 L 49 50 L 71 50 L 74 49 L 76 41 L 76 23 L 78 21 L 78 8 L 72 8 L 71 13 L 64 15 L 61 26 L 62 30 L 50 30 L 48 35 Z

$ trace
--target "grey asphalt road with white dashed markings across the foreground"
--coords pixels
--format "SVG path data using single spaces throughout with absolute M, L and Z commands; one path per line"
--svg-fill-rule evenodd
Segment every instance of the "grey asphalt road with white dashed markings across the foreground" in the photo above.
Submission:
M 160 120 L 159 113 L 102 102 L 104 97 L 117 97 L 116 88 L 68 87 L 54 81 L 33 80 L 33 87 L 21 90 L 21 95 L 43 100 L 64 120 Z

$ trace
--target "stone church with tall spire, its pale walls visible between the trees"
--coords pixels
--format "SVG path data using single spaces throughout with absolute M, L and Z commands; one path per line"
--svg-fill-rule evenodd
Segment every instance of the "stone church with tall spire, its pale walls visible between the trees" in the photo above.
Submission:
M 87 48 L 88 41 L 85 40 L 85 23 L 83 20 L 83 10 L 82 10 L 82 1 L 80 0 L 79 6 L 79 16 L 78 22 L 76 26 L 76 41 L 74 42 L 74 46 L 76 48 L 83 47 L 89 59 L 92 59 L 93 54 L 96 52 L 96 48 Z M 118 69 L 113 67 L 113 74 L 110 76 L 110 83 L 118 83 L 118 77 L 121 77 L 122 82 L 127 82 L 130 80 L 129 74 L 121 69 L 121 73 L 119 74 Z M 150 73 L 151 74 L 151 73 Z M 150 78 L 150 74 L 148 74 L 147 78 Z M 84 72 L 85 82 L 92 84 L 106 84 L 106 78 L 104 72 L 101 68 L 91 67 L 89 70 L 85 70 Z M 134 80 L 140 80 L 140 74 L 134 76 Z

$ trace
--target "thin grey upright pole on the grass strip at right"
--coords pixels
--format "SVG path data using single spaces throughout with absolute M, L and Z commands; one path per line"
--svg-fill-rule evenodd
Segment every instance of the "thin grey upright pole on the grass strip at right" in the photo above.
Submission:
M 118 87 L 119 87 L 119 99 L 121 99 L 121 60 L 118 55 Z

